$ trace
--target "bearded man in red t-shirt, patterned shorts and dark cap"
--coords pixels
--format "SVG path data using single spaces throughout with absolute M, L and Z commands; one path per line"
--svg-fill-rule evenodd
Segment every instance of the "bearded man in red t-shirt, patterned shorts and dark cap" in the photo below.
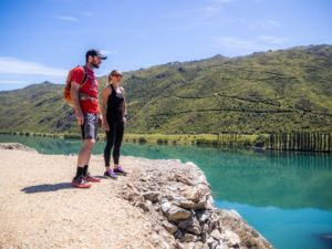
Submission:
M 97 50 L 89 50 L 85 54 L 84 68 L 77 66 L 72 72 L 71 97 L 74 103 L 75 115 L 81 125 L 83 146 L 77 158 L 76 176 L 72 186 L 77 188 L 90 188 L 92 183 L 101 179 L 91 176 L 89 173 L 89 162 L 92 148 L 96 141 L 97 126 L 100 122 L 100 104 L 97 94 L 97 79 L 94 69 L 98 69 L 102 60 L 106 56 Z

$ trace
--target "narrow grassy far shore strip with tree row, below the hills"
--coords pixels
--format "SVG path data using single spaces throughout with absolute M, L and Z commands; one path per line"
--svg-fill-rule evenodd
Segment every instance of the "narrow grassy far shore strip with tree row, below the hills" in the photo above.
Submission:
M 81 139 L 80 133 L 35 133 L 0 131 L 0 135 Z M 101 133 L 98 141 L 105 141 Z M 332 133 L 329 132 L 276 132 L 262 134 L 134 134 L 125 133 L 124 141 L 135 144 L 185 145 L 210 147 L 238 147 L 252 149 L 332 153 Z

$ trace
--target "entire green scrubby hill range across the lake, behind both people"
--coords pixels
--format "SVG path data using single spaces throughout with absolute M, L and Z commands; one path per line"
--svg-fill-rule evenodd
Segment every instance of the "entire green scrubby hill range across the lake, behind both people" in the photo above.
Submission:
M 331 45 L 174 62 L 126 72 L 123 85 L 131 133 L 332 132 Z M 77 132 L 62 89 L 0 92 L 0 129 Z

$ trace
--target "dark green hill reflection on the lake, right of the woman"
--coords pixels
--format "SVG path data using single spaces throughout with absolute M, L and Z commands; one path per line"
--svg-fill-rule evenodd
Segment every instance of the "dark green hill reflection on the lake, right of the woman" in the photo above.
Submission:
M 332 209 L 329 154 L 147 145 L 127 145 L 126 151 L 135 156 L 194 162 L 205 172 L 215 198 L 224 201 Z

